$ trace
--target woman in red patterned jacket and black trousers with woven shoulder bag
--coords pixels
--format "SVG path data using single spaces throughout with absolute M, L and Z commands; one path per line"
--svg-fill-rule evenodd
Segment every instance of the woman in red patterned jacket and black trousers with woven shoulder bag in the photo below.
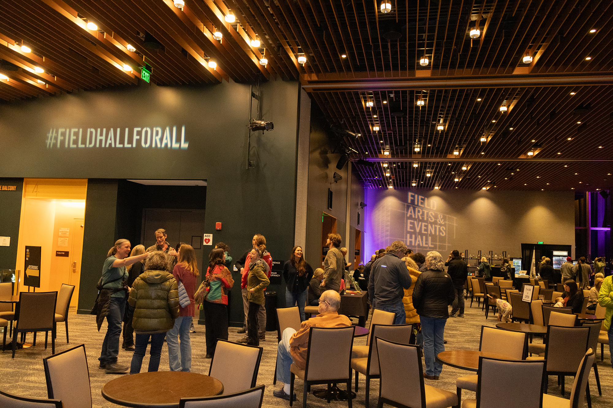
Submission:
M 207 355 L 212 358 L 217 347 L 217 339 L 228 339 L 228 290 L 234 286 L 234 279 L 226 268 L 226 254 L 223 248 L 215 248 L 208 255 L 205 292 L 202 295 L 204 310 Z

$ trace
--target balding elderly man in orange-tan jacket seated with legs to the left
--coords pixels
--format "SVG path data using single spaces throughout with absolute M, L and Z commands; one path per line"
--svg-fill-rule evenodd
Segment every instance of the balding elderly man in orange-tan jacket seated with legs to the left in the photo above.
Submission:
M 319 298 L 319 314 L 300 323 L 300 330 L 288 327 L 283 331 L 279 342 L 276 360 L 276 378 L 285 383 L 283 388 L 273 391 L 273 395 L 289 401 L 289 366 L 294 363 L 298 368 L 307 367 L 308 334 L 311 327 L 347 327 L 351 320 L 338 314 L 341 297 L 334 290 L 326 290 Z M 296 395 L 292 396 L 296 399 Z

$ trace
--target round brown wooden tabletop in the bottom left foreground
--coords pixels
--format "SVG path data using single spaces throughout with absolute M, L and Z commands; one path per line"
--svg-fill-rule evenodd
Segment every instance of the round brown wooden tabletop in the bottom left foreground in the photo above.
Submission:
M 140 372 L 110 380 L 102 387 L 102 396 L 124 407 L 171 408 L 180 398 L 219 395 L 224 386 L 218 379 L 183 371 Z

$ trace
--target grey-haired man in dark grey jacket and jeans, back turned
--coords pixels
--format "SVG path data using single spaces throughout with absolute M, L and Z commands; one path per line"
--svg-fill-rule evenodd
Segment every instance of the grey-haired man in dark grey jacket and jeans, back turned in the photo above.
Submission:
M 370 303 L 375 309 L 395 313 L 395 325 L 402 325 L 406 321 L 402 298 L 405 295 L 404 289 L 411 286 L 411 275 L 402 260 L 405 252 L 405 243 L 394 241 L 387 247 L 385 255 L 373 262 L 368 278 Z

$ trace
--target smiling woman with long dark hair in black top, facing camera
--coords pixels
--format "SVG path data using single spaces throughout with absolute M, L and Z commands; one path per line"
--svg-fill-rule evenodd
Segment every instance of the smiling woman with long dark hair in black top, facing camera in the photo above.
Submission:
M 313 278 L 313 268 L 304 260 L 302 247 L 292 248 L 289 260 L 283 265 L 285 279 L 285 306 L 298 304 L 300 322 L 305 320 L 305 303 L 307 302 L 308 284 Z

